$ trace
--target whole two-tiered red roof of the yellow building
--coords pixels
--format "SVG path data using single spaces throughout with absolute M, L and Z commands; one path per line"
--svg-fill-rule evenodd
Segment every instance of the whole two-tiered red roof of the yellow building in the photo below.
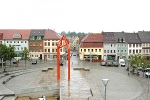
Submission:
M 80 47 L 89 48 L 89 47 L 103 47 L 103 36 L 101 33 L 92 33 L 85 36 Z

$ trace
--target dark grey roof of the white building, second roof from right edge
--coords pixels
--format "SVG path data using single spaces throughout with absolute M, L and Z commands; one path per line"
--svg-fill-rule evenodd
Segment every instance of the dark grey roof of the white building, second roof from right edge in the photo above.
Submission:
M 142 43 L 138 33 L 125 33 L 127 43 Z

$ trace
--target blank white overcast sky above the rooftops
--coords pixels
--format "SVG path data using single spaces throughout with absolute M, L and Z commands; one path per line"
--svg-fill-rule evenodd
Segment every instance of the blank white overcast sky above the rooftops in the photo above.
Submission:
M 150 31 L 150 0 L 0 0 L 0 29 Z

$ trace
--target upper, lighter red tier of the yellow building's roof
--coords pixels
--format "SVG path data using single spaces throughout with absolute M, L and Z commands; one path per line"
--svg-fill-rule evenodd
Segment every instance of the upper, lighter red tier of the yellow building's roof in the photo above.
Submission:
M 103 42 L 101 33 L 91 33 L 85 36 L 81 42 Z

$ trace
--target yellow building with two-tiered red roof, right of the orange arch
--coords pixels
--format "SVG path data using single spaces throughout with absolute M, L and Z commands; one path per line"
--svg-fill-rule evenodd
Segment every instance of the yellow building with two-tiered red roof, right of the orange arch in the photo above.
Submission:
M 85 36 L 79 49 L 80 60 L 103 60 L 103 37 L 101 33 L 91 33 Z

